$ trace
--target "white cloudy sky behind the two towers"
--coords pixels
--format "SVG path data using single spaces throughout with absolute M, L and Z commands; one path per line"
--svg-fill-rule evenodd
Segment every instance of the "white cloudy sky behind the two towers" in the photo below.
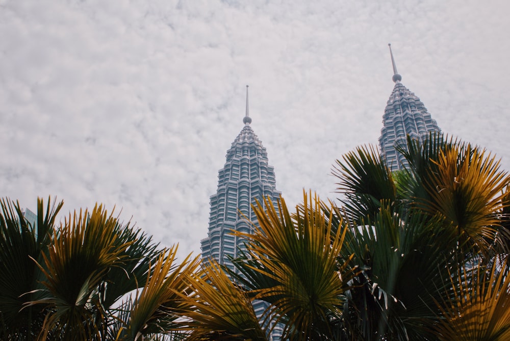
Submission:
M 243 127 L 277 189 L 335 198 L 331 164 L 377 143 L 402 84 L 444 132 L 510 169 L 506 0 L 0 0 L 0 195 L 104 203 L 200 251 Z

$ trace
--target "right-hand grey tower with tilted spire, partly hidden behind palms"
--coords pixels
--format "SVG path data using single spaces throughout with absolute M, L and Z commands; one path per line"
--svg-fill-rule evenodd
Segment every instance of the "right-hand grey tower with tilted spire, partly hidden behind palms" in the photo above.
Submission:
M 402 77 L 397 72 L 391 44 L 388 46 L 393 64 L 395 87 L 386 104 L 384 116 L 382 116 L 383 127 L 379 137 L 379 149 L 382 159 L 386 161 L 391 171 L 398 171 L 407 166 L 407 161 L 395 150 L 396 145 L 405 146 L 407 135 L 421 140 L 429 132 L 440 132 L 441 130 L 418 96 L 400 83 Z

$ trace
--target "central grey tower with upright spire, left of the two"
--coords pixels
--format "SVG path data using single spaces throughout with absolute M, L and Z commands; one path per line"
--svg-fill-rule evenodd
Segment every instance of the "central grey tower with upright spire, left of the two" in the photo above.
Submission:
M 250 204 L 256 200 L 263 203 L 268 196 L 276 201 L 280 196 L 266 149 L 250 127 L 247 85 L 243 123 L 244 128 L 232 142 L 225 165 L 218 172 L 218 190 L 210 198 L 208 236 L 201 240 L 202 259 L 213 258 L 231 269 L 227 256 L 236 257 L 238 248 L 244 247 L 244 240 L 232 235 L 232 230 L 250 233 L 247 220 L 255 220 Z

